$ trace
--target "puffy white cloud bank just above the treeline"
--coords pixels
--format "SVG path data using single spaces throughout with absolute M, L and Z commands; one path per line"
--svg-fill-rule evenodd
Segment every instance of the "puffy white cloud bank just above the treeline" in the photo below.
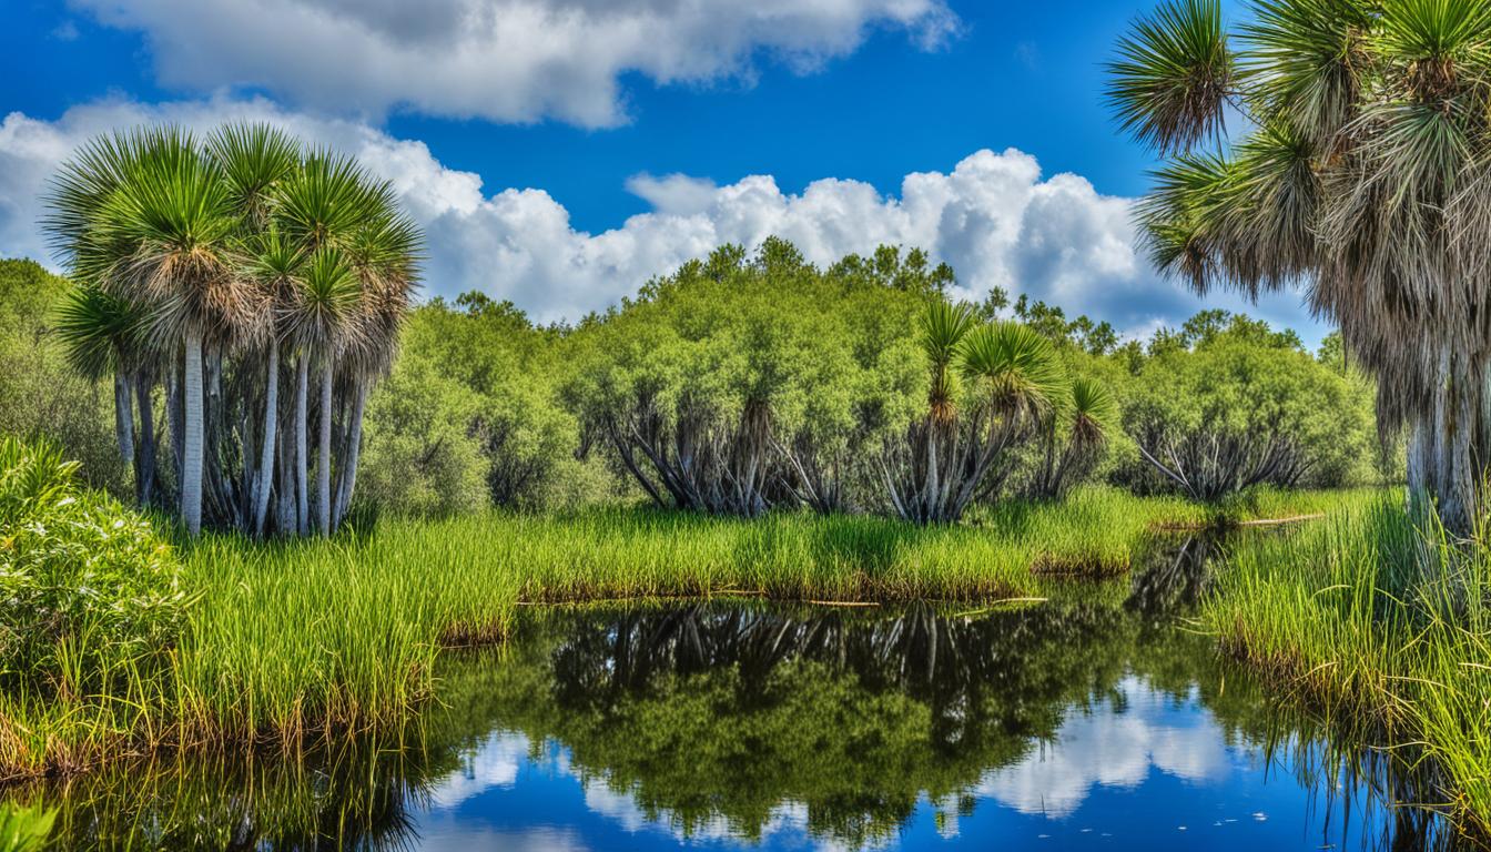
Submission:
M 766 175 L 719 185 L 684 175 L 638 175 L 626 188 L 652 209 L 589 233 L 576 228 L 568 210 L 543 189 L 492 192 L 479 175 L 443 166 L 422 142 L 395 139 L 359 121 L 228 97 L 158 106 L 101 101 L 57 121 L 6 116 L 0 122 L 0 254 L 46 257 L 36 224 L 39 195 L 58 163 L 89 136 L 148 121 L 209 130 L 227 119 L 276 122 L 361 158 L 394 184 L 425 228 L 426 294 L 482 289 L 513 300 L 540 321 L 604 309 L 720 243 L 751 248 L 772 234 L 792 240 L 819 264 L 881 243 L 920 246 L 956 269 L 965 297 L 1003 286 L 1135 334 L 1175 325 L 1203 306 L 1136 255 L 1130 200 L 1103 195 L 1077 175 L 1044 176 L 1033 157 L 1014 149 L 977 151 L 947 172 L 908 175 L 890 195 L 841 178 L 789 192 Z M 1306 339 L 1318 336 L 1296 295 L 1260 306 L 1211 297 L 1206 306 L 1249 310 L 1293 325 Z

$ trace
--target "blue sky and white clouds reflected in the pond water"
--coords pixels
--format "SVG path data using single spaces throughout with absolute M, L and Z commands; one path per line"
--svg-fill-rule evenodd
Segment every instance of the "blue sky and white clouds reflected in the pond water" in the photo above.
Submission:
M 740 840 L 725 816 L 680 827 L 646 813 L 605 776 L 577 768 L 555 740 L 494 733 L 435 782 L 416 815 L 432 851 L 532 849 L 1321 849 L 1360 848 L 1361 795 L 1327 801 L 1302 786 L 1284 754 L 1229 734 L 1199 692 L 1173 695 L 1126 676 L 1103 698 L 1071 707 L 1053 742 L 992 768 L 960 795 L 930 800 L 887 840 L 863 846 L 810 833 L 808 803 L 783 801 Z M 1339 794 L 1337 791 L 1333 791 Z M 1349 816 L 1349 825 L 1342 821 Z M 1343 828 L 1345 827 L 1345 828 Z

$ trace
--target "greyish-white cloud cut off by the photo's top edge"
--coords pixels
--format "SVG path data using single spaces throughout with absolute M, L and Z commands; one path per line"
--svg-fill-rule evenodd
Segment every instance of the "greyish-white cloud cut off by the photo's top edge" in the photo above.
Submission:
M 73 0 L 146 34 L 157 76 L 194 91 L 262 87 L 344 113 L 586 127 L 626 121 L 620 78 L 658 84 L 798 72 L 874 28 L 921 46 L 953 34 L 944 0 Z

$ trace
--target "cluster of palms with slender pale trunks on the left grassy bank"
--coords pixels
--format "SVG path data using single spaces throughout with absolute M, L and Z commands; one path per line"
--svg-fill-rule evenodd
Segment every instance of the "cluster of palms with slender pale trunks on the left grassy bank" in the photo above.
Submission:
M 391 185 L 270 125 L 146 127 L 79 149 L 48 206 L 76 282 L 58 331 L 113 378 L 140 503 L 191 534 L 334 530 L 419 278 Z

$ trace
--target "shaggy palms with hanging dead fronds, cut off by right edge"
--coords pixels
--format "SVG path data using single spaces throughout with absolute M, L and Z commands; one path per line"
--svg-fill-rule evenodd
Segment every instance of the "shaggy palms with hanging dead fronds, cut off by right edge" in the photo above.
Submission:
M 1167 158 L 1139 219 L 1205 292 L 1305 285 L 1409 434 L 1410 494 L 1472 533 L 1491 463 L 1491 3 L 1169 0 L 1120 43 L 1118 118 Z M 1246 134 L 1214 152 L 1229 115 Z M 1220 148 L 1220 146 L 1218 146 Z

